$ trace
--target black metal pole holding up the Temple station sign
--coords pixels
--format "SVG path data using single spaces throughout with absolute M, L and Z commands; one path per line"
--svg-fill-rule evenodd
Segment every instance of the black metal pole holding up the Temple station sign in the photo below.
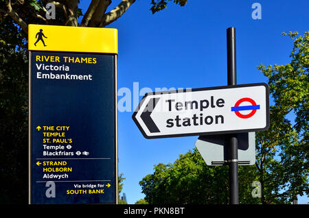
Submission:
M 236 29 L 227 29 L 227 85 L 236 85 Z M 227 143 L 229 163 L 229 204 L 239 204 L 238 199 L 238 140 L 229 136 Z

